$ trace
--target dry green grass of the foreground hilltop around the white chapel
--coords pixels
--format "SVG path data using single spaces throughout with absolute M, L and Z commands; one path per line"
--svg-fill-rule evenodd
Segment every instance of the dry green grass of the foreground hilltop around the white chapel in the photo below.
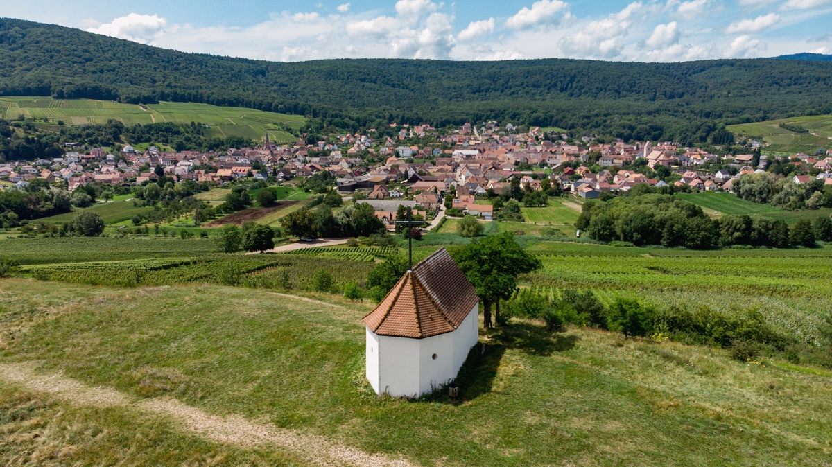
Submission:
M 422 465 L 823 465 L 832 455 L 828 371 L 584 328 L 552 335 L 514 322 L 483 335 L 486 351 L 468 361 L 459 401 L 379 398 L 364 381 L 360 318 L 372 305 L 331 300 L 338 306 L 240 288 L 2 279 L 0 361 L 37 362 L 45 374 L 136 398 L 174 397 Z M 0 454 L 5 465 L 42 442 L 5 421 L 15 420 L 10 407 L 42 396 L 0 391 L 0 426 L 22 438 Z M 228 450 L 226 464 L 240 460 L 233 445 L 200 443 L 149 415 L 133 422 L 117 410 L 46 404 L 32 402 L 26 413 L 77 424 L 55 423 L 64 428 L 49 434 L 64 464 L 113 459 L 91 462 L 91 443 L 134 463 L 180 464 L 214 449 Z M 69 430 L 77 435 L 62 436 Z M 159 460 L 160 450 L 171 458 Z

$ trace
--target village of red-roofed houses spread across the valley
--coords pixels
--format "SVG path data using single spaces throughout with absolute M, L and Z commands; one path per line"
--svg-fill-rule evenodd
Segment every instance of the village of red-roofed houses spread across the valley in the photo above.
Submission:
M 591 137 L 570 138 L 565 133 L 530 128 L 520 133 L 512 124 L 496 121 L 466 123 L 438 131 L 430 125 L 399 127 L 398 138 L 374 140 L 369 135 L 337 135 L 316 145 L 270 143 L 231 148 L 225 152 L 166 152 L 150 146 L 144 151 L 125 145 L 116 154 L 104 148 L 84 150 L 67 143 L 67 152 L 52 160 L 7 161 L 0 165 L 5 189 L 27 189 L 33 179 L 72 192 L 93 185 L 110 193 L 127 194 L 131 187 L 166 177 L 174 183 L 192 180 L 206 189 L 234 180 L 262 180 L 270 184 L 299 184 L 325 172 L 339 194 L 368 199 L 376 215 L 394 228 L 399 204 L 422 209 L 435 217 L 445 204 L 448 214 L 494 218 L 492 205 L 476 199 L 494 198 L 518 184 L 525 191 L 569 194 L 597 199 L 626 192 L 637 184 L 673 185 L 675 191 L 731 192 L 735 180 L 763 172 L 770 160 L 785 156 L 716 155 L 673 142 L 599 143 Z M 440 134 L 441 133 L 441 134 Z M 402 141 L 430 140 L 404 145 Z M 756 141 L 750 148 L 759 147 Z M 823 155 L 797 154 L 788 158 L 805 175 L 795 184 L 823 179 L 832 184 L 832 150 Z M 3 185 L 0 185 L 2 189 Z M 398 200 L 399 203 L 384 202 Z M 458 209 L 458 210 L 455 210 Z

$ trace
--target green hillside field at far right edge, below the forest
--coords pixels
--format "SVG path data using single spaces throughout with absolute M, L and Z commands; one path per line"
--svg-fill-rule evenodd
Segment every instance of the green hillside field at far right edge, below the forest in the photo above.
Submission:
M 795 133 L 780 128 L 780 123 L 799 125 L 808 133 Z M 820 147 L 832 147 L 832 116 L 801 116 L 784 120 L 769 120 L 742 125 L 730 125 L 728 130 L 736 135 L 760 138 L 768 145 L 764 152 L 795 155 L 798 152 L 814 154 Z

